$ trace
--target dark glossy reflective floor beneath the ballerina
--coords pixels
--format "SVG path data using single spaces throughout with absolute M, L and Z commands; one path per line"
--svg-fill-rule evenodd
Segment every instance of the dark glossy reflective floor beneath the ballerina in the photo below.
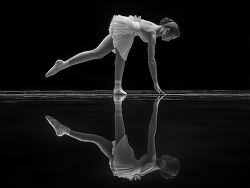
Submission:
M 128 91 L 126 97 L 112 91 L 1 91 L 0 117 L 1 178 L 9 187 L 248 182 L 249 91 Z M 114 169 L 124 135 L 124 147 L 141 167 L 136 181 Z M 131 150 L 117 154 L 118 162 L 131 162 L 126 152 Z M 168 156 L 165 162 L 162 156 Z M 165 173 L 153 168 L 156 159 Z

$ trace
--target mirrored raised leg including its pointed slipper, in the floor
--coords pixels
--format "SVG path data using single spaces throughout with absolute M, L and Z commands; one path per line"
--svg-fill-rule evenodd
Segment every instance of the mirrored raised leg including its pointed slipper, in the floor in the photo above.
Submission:
M 70 128 L 66 127 L 65 125 L 63 125 L 62 123 L 60 123 L 51 116 L 45 116 L 45 118 L 48 120 L 49 124 L 55 130 L 57 136 L 68 135 L 82 142 L 94 143 L 109 159 L 112 159 L 113 145 L 112 142 L 110 142 L 106 138 L 95 134 L 86 134 L 86 133 L 72 131 L 70 130 Z

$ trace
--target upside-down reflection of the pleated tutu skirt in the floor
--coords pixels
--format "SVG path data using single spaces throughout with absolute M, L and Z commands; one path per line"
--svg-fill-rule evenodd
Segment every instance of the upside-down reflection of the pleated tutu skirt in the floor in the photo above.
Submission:
M 113 160 L 110 161 L 110 168 L 114 176 L 132 179 L 134 174 L 137 174 L 136 159 L 134 151 L 128 143 L 127 135 L 124 135 L 121 140 L 116 144 L 112 142 L 112 155 Z

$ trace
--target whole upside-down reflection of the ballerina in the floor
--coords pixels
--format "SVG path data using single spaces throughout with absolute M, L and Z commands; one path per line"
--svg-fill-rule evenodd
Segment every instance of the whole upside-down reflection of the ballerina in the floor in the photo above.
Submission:
M 50 125 L 54 128 L 57 136 L 68 135 L 83 142 L 96 144 L 100 150 L 109 158 L 110 169 L 114 176 L 127 178 L 129 180 L 141 179 L 155 170 L 159 170 L 163 178 L 174 178 L 180 169 L 180 162 L 170 155 L 157 158 L 155 150 L 155 134 L 157 130 L 157 114 L 159 102 L 164 96 L 159 96 L 154 101 L 153 114 L 148 129 L 148 151 L 139 160 L 134 156 L 134 151 L 128 143 L 125 126 L 122 117 L 122 101 L 126 96 L 114 96 L 115 103 L 115 141 L 95 135 L 76 132 L 62 125 L 51 116 L 46 116 Z

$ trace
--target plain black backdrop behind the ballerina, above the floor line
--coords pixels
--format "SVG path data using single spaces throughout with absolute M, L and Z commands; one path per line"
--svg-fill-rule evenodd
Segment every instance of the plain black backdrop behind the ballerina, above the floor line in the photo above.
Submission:
M 94 49 L 112 16 L 174 19 L 181 36 L 157 39 L 162 89 L 250 89 L 248 1 L 8 1 L 2 4 L 1 90 L 113 89 L 115 54 L 45 78 L 57 59 Z M 147 44 L 135 38 L 123 88 L 153 89 Z

